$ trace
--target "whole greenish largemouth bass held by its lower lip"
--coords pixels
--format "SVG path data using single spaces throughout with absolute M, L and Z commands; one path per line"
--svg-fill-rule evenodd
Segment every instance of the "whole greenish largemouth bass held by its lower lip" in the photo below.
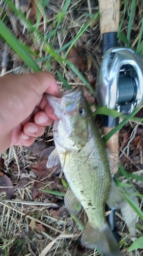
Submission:
M 97 248 L 105 256 L 119 256 L 118 244 L 105 219 L 105 202 L 111 189 L 108 159 L 88 103 L 80 88 L 64 92 L 61 98 L 47 95 L 47 99 L 60 119 L 53 125 L 55 151 L 47 167 L 60 159 L 69 184 L 65 206 L 76 214 L 82 205 L 87 213 L 81 244 Z

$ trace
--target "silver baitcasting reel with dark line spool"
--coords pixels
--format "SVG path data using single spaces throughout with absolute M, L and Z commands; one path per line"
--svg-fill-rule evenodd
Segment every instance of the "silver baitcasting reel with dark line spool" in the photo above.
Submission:
M 128 48 L 106 51 L 96 84 L 99 105 L 129 115 L 143 104 L 143 57 Z

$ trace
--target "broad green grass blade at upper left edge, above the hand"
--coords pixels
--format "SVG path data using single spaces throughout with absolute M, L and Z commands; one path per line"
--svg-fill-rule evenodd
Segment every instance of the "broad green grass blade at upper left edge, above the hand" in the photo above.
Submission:
M 41 69 L 37 65 L 36 61 L 28 54 L 20 42 L 14 37 L 14 35 L 8 30 L 5 24 L 0 20 L 0 35 L 7 41 L 7 43 L 13 48 L 18 56 L 31 68 L 33 71 L 40 71 Z

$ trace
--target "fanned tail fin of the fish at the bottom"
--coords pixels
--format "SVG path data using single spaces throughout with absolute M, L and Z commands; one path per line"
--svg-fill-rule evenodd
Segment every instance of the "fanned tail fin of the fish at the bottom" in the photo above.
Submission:
M 90 249 L 97 248 L 105 256 L 121 256 L 118 243 L 107 223 L 101 228 L 94 228 L 88 221 L 82 233 L 81 244 Z

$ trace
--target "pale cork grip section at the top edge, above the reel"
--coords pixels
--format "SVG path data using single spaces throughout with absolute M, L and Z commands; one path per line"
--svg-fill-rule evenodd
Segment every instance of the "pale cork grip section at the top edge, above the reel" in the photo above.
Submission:
M 101 36 L 119 29 L 120 0 L 99 0 Z

